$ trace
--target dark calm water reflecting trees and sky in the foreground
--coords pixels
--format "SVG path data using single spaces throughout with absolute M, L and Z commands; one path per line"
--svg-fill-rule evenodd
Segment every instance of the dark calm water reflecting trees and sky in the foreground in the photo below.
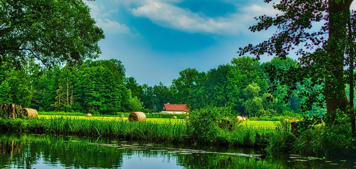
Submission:
M 308 158 L 275 154 L 265 159 L 227 154 L 181 153 L 167 150 L 130 149 L 89 145 L 146 144 L 152 147 L 203 149 L 209 152 L 259 154 L 251 149 L 226 147 L 181 147 L 149 142 L 122 142 L 118 139 L 80 138 L 51 134 L 0 134 L 0 168 L 11 169 L 224 169 L 224 168 L 356 168 L 356 158 Z M 162 143 L 160 143 L 162 144 Z

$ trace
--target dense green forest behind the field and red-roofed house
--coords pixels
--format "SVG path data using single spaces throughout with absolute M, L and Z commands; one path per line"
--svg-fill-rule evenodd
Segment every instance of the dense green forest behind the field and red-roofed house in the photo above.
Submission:
M 233 58 L 208 72 L 187 68 L 179 72 L 172 85 L 140 85 L 134 77 L 126 77 L 120 60 L 86 60 L 82 65 L 56 66 L 42 69 L 30 62 L 21 69 L 3 64 L 0 69 L 0 101 L 21 104 L 39 111 L 83 112 L 116 115 L 118 112 L 159 112 L 164 103 L 187 104 L 200 109 L 205 105 L 228 106 L 234 113 L 271 117 L 298 113 L 303 102 L 297 85 L 286 100 L 283 85 L 274 95 L 265 69 L 275 65 L 286 70 L 298 67 L 297 61 L 274 57 L 261 63 L 252 57 Z M 316 86 L 315 88 L 317 88 Z M 323 115 L 320 107 L 300 112 L 302 115 Z

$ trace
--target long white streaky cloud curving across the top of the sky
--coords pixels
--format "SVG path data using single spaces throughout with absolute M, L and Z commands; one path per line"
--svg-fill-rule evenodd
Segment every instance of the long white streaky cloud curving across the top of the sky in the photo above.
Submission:
M 226 17 L 206 17 L 165 2 L 155 1 L 131 9 L 137 17 L 146 17 L 159 26 L 189 33 L 213 33 L 221 35 L 236 34 L 246 31 L 257 14 L 271 13 L 272 7 L 251 5 L 240 10 L 243 13 L 230 14 Z M 273 10 L 276 13 L 276 10 Z

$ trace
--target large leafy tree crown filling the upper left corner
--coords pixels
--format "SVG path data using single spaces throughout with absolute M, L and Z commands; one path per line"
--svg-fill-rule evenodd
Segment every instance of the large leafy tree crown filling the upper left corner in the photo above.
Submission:
M 82 63 L 101 53 L 103 30 L 82 0 L 0 1 L 0 63 L 36 59 L 47 67 Z

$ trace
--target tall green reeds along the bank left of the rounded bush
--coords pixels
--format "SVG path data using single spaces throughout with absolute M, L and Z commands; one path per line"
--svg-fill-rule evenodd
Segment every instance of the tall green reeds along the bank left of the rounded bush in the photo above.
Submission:
M 186 134 L 184 122 L 129 122 L 127 120 L 88 120 L 70 116 L 38 119 L 0 118 L 2 130 L 40 133 L 66 133 L 80 136 L 102 136 L 126 139 L 153 139 L 182 142 Z

